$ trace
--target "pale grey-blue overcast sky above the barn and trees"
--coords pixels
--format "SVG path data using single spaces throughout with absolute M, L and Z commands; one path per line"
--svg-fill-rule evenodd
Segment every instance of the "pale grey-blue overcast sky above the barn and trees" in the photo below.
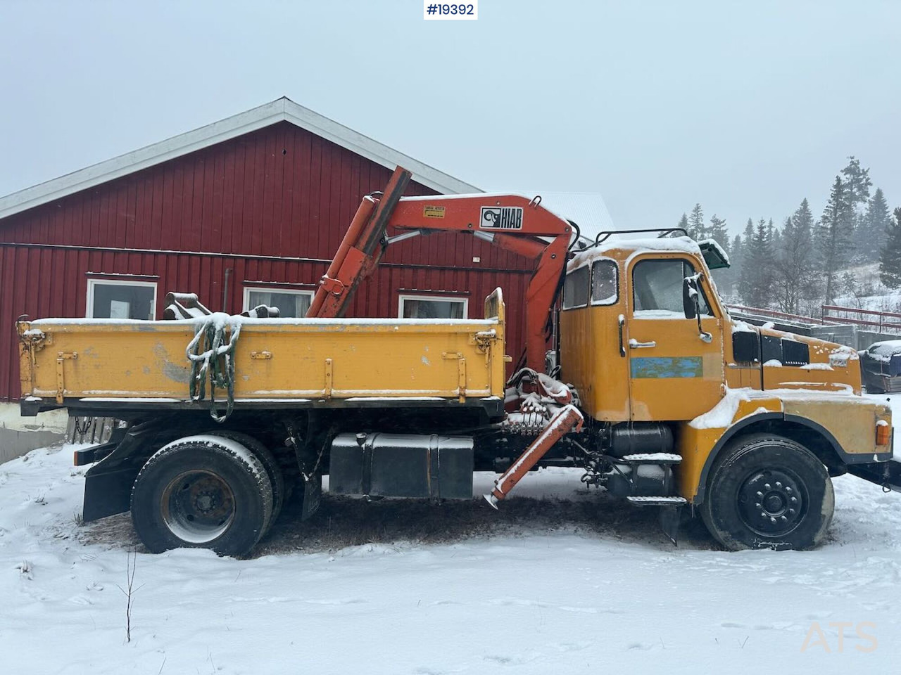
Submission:
M 845 157 L 901 205 L 901 2 L 0 0 L 0 194 L 282 95 L 487 190 L 818 215 Z

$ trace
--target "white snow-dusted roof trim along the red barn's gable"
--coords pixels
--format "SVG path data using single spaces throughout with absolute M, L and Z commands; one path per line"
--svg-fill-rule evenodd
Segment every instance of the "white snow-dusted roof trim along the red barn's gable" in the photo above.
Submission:
M 68 194 L 106 183 L 123 175 L 141 171 L 148 166 L 155 166 L 169 159 L 187 155 L 189 152 L 208 148 L 223 142 L 223 140 L 237 138 L 279 121 L 291 122 L 301 129 L 310 131 L 323 139 L 331 140 L 341 148 L 347 148 L 381 166 L 387 166 L 390 169 L 394 169 L 398 165 L 404 166 L 413 172 L 414 181 L 440 193 L 481 192 L 474 185 L 464 183 L 452 175 L 444 174 L 413 157 L 407 157 L 394 148 L 388 148 L 386 145 L 323 117 L 288 98 L 279 98 L 277 101 L 260 105 L 247 112 L 240 112 L 232 117 L 226 117 L 224 120 L 214 121 L 200 129 L 187 131 L 187 133 L 173 136 L 171 139 L 133 150 L 93 166 L 87 166 L 46 183 L 7 194 L 0 198 L 0 219 L 46 202 L 52 202 Z

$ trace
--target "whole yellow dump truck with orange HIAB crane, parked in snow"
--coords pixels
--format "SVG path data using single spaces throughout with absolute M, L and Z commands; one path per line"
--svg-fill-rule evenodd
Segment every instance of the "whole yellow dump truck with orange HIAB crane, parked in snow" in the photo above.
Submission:
M 173 296 L 174 320 L 18 324 L 23 414 L 125 421 L 77 452 L 96 463 L 86 520 L 131 509 L 151 551 L 244 554 L 290 491 L 312 514 L 325 473 L 339 494 L 444 500 L 472 499 L 472 473 L 495 471 L 497 506 L 530 469 L 562 465 L 659 508 L 674 540 L 690 512 L 728 549 L 781 549 L 823 540 L 832 476 L 901 489 L 890 410 L 861 396 L 856 352 L 732 320 L 714 243 L 589 242 L 537 199 L 388 203 L 396 192 L 364 200 L 313 318 L 230 317 Z M 384 247 L 436 227 L 538 258 L 512 378 L 500 291 L 481 320 L 341 318 Z

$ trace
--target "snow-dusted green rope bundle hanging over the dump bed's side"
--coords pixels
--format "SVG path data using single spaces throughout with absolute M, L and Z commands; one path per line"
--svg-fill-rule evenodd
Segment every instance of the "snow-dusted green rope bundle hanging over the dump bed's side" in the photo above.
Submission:
M 231 329 L 225 342 L 225 329 Z M 223 312 L 216 312 L 198 320 L 194 339 L 187 346 L 186 354 L 191 362 L 189 391 L 191 399 L 206 398 L 206 381 L 210 384 L 210 417 L 224 422 L 234 409 L 234 347 L 241 334 L 241 320 Z M 226 392 L 225 413 L 216 410 L 216 389 Z

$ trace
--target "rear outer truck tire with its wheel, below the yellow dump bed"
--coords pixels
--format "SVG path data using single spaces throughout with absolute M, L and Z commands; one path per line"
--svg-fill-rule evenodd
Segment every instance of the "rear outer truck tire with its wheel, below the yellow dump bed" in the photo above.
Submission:
M 132 487 L 132 522 L 151 553 L 183 546 L 243 555 L 272 517 L 266 469 L 229 438 L 189 436 L 161 447 Z

